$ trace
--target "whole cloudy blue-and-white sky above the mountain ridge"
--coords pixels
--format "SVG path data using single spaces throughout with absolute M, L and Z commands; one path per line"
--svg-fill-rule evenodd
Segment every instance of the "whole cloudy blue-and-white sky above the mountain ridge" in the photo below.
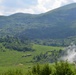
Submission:
M 75 2 L 76 0 L 0 0 L 0 15 L 40 14 Z

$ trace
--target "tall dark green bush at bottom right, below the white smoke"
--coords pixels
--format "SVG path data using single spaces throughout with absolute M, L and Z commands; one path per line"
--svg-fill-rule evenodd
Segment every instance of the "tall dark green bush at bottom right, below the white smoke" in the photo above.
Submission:
M 55 63 L 55 72 L 53 75 L 75 75 L 70 64 L 66 62 Z

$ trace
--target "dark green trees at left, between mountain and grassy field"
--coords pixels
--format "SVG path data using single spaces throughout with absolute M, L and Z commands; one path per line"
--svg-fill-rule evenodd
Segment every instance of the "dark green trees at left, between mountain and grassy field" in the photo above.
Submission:
M 0 43 L 7 49 L 17 50 L 17 51 L 31 51 L 32 44 L 29 39 L 19 39 L 12 36 L 4 36 L 0 38 Z

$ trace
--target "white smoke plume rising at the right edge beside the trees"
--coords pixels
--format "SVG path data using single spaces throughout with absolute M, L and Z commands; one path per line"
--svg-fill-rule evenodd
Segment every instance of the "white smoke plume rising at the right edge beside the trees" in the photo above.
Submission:
M 62 60 L 67 60 L 68 62 L 76 62 L 76 45 L 71 43 L 70 46 L 65 48 L 65 54 L 61 58 Z

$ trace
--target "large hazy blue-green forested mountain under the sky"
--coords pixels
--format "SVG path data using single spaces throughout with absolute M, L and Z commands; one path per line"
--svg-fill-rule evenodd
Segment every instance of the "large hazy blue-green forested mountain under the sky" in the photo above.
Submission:
M 76 3 L 42 14 L 0 16 L 0 36 L 62 39 L 76 36 Z

